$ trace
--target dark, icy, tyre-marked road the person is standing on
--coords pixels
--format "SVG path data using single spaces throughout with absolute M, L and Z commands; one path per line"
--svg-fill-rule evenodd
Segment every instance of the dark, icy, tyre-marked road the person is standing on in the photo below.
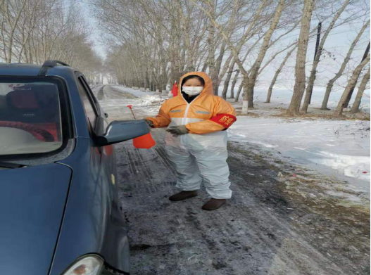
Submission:
M 111 119 L 130 119 L 115 99 L 125 93 L 108 86 L 96 92 Z M 122 99 L 135 100 L 131 94 Z M 146 108 L 136 111 L 139 118 L 146 115 Z M 165 131 L 152 134 L 157 145 L 150 150 L 135 149 L 129 141 L 116 146 L 132 274 L 370 274 L 369 213 L 318 196 L 319 176 L 293 187 L 277 177 L 272 159 L 256 145 L 241 149 L 229 143 L 233 197 L 220 210 L 206 212 L 204 189 L 196 198 L 168 200 L 178 191 L 175 171 L 164 152 Z M 302 167 L 280 167 L 310 177 Z

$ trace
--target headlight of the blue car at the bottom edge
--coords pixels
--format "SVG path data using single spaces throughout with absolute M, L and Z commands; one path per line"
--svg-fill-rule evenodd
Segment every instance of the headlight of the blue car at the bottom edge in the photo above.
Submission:
M 99 275 L 103 268 L 103 259 L 98 255 L 86 255 L 77 259 L 63 275 Z

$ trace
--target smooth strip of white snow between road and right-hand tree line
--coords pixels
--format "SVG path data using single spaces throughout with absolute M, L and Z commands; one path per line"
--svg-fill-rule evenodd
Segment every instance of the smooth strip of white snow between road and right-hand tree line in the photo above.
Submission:
M 240 116 L 229 128 L 229 138 L 256 143 L 370 193 L 369 127 L 368 121 Z

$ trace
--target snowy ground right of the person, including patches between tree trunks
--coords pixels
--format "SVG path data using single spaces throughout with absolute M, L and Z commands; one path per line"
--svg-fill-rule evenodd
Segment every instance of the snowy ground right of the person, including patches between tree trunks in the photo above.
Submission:
M 253 143 L 263 154 L 340 181 L 341 186 L 327 186 L 332 195 L 370 207 L 370 98 L 364 98 L 365 113 L 351 115 L 351 120 L 325 119 L 329 111 L 320 110 L 323 95 L 317 91 L 308 117 L 284 117 L 291 94 L 277 91 L 272 103 L 264 103 L 264 91 L 257 93 L 255 108 L 238 116 L 229 139 L 240 146 Z M 228 101 L 241 111 L 241 101 Z M 336 105 L 336 97 L 330 97 L 329 107 Z

